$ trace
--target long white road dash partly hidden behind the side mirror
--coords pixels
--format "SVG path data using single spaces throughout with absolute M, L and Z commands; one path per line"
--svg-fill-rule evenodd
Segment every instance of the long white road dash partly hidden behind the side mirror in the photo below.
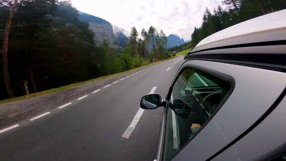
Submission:
M 156 88 L 157 88 L 157 87 L 154 86 L 154 87 L 151 89 L 151 91 L 150 91 L 149 94 L 154 93 L 154 91 L 156 90 Z M 139 108 L 139 110 L 137 111 L 136 115 L 134 116 L 134 118 L 133 118 L 131 124 L 128 126 L 128 128 L 127 128 L 127 129 L 125 130 L 125 132 L 123 133 L 123 135 L 122 135 L 123 138 L 129 139 L 129 137 L 130 137 L 130 135 L 132 134 L 133 130 L 135 129 L 137 123 L 139 122 L 139 120 L 140 120 L 140 118 L 141 118 L 143 112 L 144 112 L 144 109 Z

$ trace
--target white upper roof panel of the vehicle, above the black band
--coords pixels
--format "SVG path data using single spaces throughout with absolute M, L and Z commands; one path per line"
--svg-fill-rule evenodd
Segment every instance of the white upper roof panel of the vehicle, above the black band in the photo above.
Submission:
M 286 40 L 286 9 L 233 25 L 203 39 L 193 50 Z

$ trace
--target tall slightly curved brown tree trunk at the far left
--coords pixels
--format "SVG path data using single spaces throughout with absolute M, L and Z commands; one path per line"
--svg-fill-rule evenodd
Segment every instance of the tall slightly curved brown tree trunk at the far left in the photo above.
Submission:
M 13 14 L 17 7 L 18 0 L 14 0 L 12 4 L 9 15 L 6 21 L 5 30 L 4 30 L 4 37 L 3 37 L 3 51 L 2 51 L 2 60 L 3 60 L 3 78 L 7 93 L 10 98 L 14 97 L 13 90 L 11 88 L 10 79 L 9 79 L 9 68 L 8 68 L 8 38 L 9 38 L 9 30 L 11 26 L 11 21 L 13 18 Z

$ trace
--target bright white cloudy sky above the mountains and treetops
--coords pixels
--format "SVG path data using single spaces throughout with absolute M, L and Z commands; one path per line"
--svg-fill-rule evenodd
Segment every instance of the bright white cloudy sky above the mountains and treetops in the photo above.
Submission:
M 191 39 L 195 26 L 202 24 L 203 13 L 221 5 L 221 0 L 71 0 L 78 10 L 103 18 L 130 32 L 141 32 L 153 25 L 165 34 Z

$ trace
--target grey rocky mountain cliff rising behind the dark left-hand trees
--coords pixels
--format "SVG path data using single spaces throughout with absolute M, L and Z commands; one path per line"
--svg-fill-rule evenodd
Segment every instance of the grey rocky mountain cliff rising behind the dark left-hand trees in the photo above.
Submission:
M 99 46 L 105 39 L 110 47 L 122 51 L 129 41 L 121 30 L 114 33 L 112 24 L 105 19 L 84 12 L 79 12 L 78 18 L 89 23 L 89 28 L 94 32 L 95 40 Z

